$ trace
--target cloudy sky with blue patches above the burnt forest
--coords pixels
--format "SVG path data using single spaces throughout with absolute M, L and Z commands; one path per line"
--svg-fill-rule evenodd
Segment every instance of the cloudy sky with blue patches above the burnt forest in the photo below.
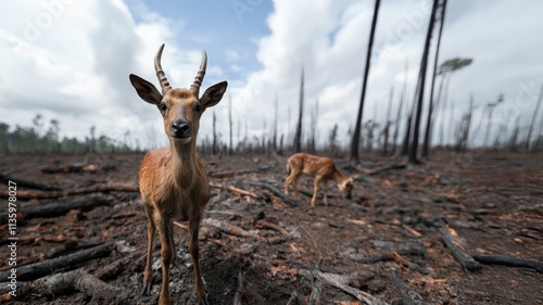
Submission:
M 413 100 L 430 9 L 428 0 L 381 1 L 364 120 L 376 117 L 382 126 L 391 88 L 395 114 L 406 63 L 406 97 Z M 318 100 L 320 143 L 336 124 L 346 142 L 372 10 L 374 1 L 348 0 L 3 0 L 0 122 L 30 126 L 39 113 L 46 123 L 60 122 L 62 137 L 84 139 L 96 126 L 99 135 L 117 140 L 129 131 L 131 144 L 164 144 L 161 115 L 128 81 L 134 73 L 157 86 L 153 59 L 164 42 L 162 63 L 174 87 L 190 86 L 204 49 L 203 88 L 229 82 L 223 101 L 204 114 L 200 140 L 211 136 L 215 112 L 228 141 L 230 100 L 235 142 L 245 132 L 269 134 L 276 101 L 278 129 L 287 134 L 298 116 L 303 66 L 305 124 Z M 440 62 L 473 63 L 453 76 L 438 126 L 456 124 L 471 96 L 479 120 L 503 93 L 492 128 L 510 131 L 520 117 L 526 132 L 543 85 L 541 12 L 539 0 L 449 1 Z

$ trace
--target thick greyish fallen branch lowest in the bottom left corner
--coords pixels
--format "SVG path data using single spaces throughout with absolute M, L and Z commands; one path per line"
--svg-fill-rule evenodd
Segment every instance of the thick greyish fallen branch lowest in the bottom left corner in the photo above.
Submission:
M 21 298 L 31 293 L 39 297 L 50 296 L 54 298 L 73 291 L 91 296 L 91 300 L 88 301 L 89 304 L 131 304 L 132 302 L 124 289 L 108 284 L 81 269 L 52 275 L 35 282 L 23 282 L 21 287 L 17 287 L 16 297 Z

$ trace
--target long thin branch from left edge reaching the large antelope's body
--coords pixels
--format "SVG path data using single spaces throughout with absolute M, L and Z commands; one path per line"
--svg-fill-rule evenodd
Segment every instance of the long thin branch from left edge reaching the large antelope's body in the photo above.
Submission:
M 33 191 L 18 191 L 17 190 L 17 200 L 30 200 L 30 199 L 58 199 L 62 196 L 68 195 L 80 195 L 80 194 L 90 194 L 98 192 L 139 192 L 139 188 L 132 183 L 105 183 L 105 185 L 96 185 L 89 188 L 75 189 L 70 191 L 62 192 L 33 192 Z M 0 198 L 8 198 L 8 191 L 0 191 Z

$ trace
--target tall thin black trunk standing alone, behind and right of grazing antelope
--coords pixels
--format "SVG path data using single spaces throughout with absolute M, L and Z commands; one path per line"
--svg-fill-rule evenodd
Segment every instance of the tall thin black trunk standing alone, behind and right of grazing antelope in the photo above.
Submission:
M 377 16 L 379 14 L 380 2 L 381 2 L 380 0 L 375 1 L 374 18 L 371 21 L 371 29 L 369 31 L 368 50 L 366 53 L 366 67 L 364 69 L 364 79 L 362 82 L 361 104 L 358 106 L 358 116 L 356 117 L 356 126 L 354 128 L 353 139 L 351 141 L 351 162 L 353 162 L 353 163 L 359 163 L 358 148 L 359 148 L 359 140 L 361 140 L 364 99 L 366 97 L 366 87 L 367 87 L 368 75 L 369 75 L 369 63 L 370 63 L 370 59 L 371 59 L 371 48 L 374 46 L 374 37 L 375 37 L 375 30 L 376 30 L 376 26 L 377 26 Z

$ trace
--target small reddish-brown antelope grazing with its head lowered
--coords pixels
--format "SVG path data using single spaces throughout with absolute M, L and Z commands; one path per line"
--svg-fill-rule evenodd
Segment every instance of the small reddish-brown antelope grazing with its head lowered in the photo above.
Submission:
M 334 180 L 338 183 L 340 192 L 345 193 L 346 199 L 351 199 L 352 196 L 353 179 L 343 176 L 329 157 L 296 153 L 287 160 L 287 170 L 289 171 L 289 176 L 285 180 L 285 193 L 289 194 L 289 186 L 292 185 L 294 198 L 298 200 L 300 200 L 300 192 L 298 191 L 298 179 L 300 176 L 307 174 L 315 177 L 313 198 L 311 199 L 312 207 L 315 207 L 320 182 L 324 182 L 324 201 L 325 205 L 328 206 L 328 199 L 326 196 L 328 180 Z

